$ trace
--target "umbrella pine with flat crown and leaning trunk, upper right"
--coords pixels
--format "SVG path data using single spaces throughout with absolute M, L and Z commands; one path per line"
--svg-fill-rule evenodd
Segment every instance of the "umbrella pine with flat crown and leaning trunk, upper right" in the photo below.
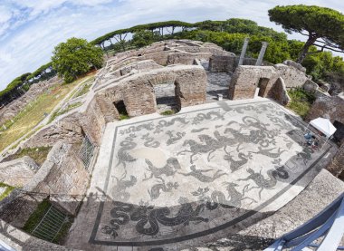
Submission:
M 338 11 L 315 5 L 288 5 L 272 8 L 269 10 L 269 16 L 270 21 L 282 24 L 287 33 L 295 32 L 308 36 L 298 63 L 309 53 L 311 45 L 320 47 L 318 52 L 324 49 L 344 52 L 344 15 Z

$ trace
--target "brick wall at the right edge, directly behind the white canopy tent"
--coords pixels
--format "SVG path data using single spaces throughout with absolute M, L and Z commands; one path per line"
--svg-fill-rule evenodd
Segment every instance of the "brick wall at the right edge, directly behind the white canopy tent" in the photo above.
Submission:
M 331 122 L 336 120 L 344 123 L 344 100 L 339 96 L 319 97 L 312 104 L 306 121 L 311 121 L 318 117 L 329 119 Z

